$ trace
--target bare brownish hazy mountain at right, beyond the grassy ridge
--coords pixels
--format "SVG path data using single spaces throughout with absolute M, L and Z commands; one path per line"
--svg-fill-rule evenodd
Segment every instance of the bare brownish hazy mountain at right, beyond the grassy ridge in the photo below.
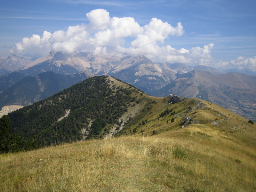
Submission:
M 172 83 L 151 92 L 164 97 L 169 93 L 186 98 L 207 100 L 249 119 L 256 117 L 256 77 L 230 72 L 215 75 L 195 69 L 182 74 Z

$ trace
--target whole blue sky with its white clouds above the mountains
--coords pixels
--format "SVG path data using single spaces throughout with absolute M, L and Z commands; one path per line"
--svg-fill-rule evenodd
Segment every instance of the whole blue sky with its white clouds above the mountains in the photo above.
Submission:
M 101 12 L 92 12 L 96 9 L 101 9 Z M 99 31 L 102 34 L 103 31 L 110 30 L 111 36 L 114 36 L 116 31 L 118 32 L 116 28 L 113 28 L 113 25 L 111 25 L 112 27 L 110 25 L 107 27 L 98 26 L 99 28 L 92 30 L 92 24 L 97 25 L 98 22 L 98 20 L 92 22 L 97 14 L 100 14 L 102 16 L 100 18 L 104 20 L 106 12 L 102 10 L 109 13 L 109 20 L 106 21 L 108 23 L 113 23 L 114 17 L 132 17 L 134 19 L 134 21 L 127 21 L 130 24 L 133 23 L 131 26 L 126 26 L 128 29 L 134 27 L 131 35 L 124 34 L 117 38 L 118 41 L 122 42 L 121 44 L 113 43 L 114 37 L 112 40 L 109 39 L 107 43 L 96 42 L 99 41 L 99 38 L 94 37 L 94 35 Z M 90 39 L 90 46 L 94 45 L 90 49 L 85 49 L 85 45 L 76 44 L 73 51 L 100 49 L 100 53 L 105 51 L 105 53 L 135 54 L 138 52 L 154 61 L 180 61 L 191 65 L 205 63 L 205 65 L 224 68 L 242 68 L 245 66 L 247 69 L 253 70 L 254 67 L 256 68 L 255 10 L 255 0 L 1 0 L 0 55 L 8 56 L 9 50 L 12 50 L 12 53 L 20 56 L 39 57 L 44 54 L 44 51 L 48 51 L 45 46 L 49 46 L 49 49 L 54 48 L 57 51 L 66 50 L 68 52 L 70 50 L 63 48 L 63 38 L 62 42 L 53 46 L 56 41 L 60 40 L 59 37 L 52 38 L 54 39 L 52 40 L 50 36 L 60 30 L 67 33 L 69 26 L 79 25 L 79 28 L 83 26 L 86 33 L 88 32 L 87 29 L 91 27 L 90 32 L 88 32 L 89 36 L 86 36 L 86 42 L 88 43 Z M 86 13 L 89 12 L 92 12 L 91 21 L 86 16 Z M 152 18 L 158 20 L 153 21 Z M 177 24 L 179 22 L 180 26 Z M 144 30 L 139 31 L 136 24 Z M 160 29 L 161 31 L 159 31 Z M 152 30 L 162 35 L 153 37 Z M 47 42 L 47 45 L 45 43 L 44 45 L 40 44 L 43 49 L 42 52 L 39 45 L 38 49 L 33 45 L 31 50 L 37 51 L 37 54 L 32 53 L 29 44 L 26 44 L 25 41 L 22 42 L 22 39 L 24 37 L 31 38 L 33 34 L 42 38 L 44 31 L 49 32 L 47 40 L 49 39 L 50 43 Z M 85 36 L 81 37 L 81 30 L 79 33 L 80 38 L 85 38 Z M 65 36 L 67 37 L 66 34 Z M 66 41 L 70 41 L 70 38 Z M 15 45 L 19 42 L 21 42 L 22 51 Z M 145 42 L 147 42 L 147 46 Z M 86 44 L 87 47 L 88 44 Z M 103 49 L 104 46 L 105 49 Z M 158 50 L 151 50 L 156 46 Z M 142 49 L 151 50 L 151 52 Z M 160 51 L 164 53 L 159 55 Z

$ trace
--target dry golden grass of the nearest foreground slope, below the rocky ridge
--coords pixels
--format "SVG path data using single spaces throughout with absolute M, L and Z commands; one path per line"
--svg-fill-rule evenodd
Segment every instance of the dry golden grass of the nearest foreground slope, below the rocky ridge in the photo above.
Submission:
M 255 157 L 193 128 L 82 141 L 1 155 L 0 191 L 255 191 Z

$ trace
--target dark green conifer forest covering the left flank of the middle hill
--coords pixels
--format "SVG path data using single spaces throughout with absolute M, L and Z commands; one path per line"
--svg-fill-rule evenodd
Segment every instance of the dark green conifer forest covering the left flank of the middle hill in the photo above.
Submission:
M 88 78 L 45 100 L 8 114 L 14 135 L 23 135 L 24 142 L 34 136 L 40 146 L 59 144 L 87 138 L 103 137 L 104 127 L 117 123 L 134 100 L 137 90 L 115 88 L 106 76 Z M 67 110 L 70 114 L 61 121 Z M 91 124 L 91 129 L 88 125 Z M 82 134 L 82 129 L 89 131 Z

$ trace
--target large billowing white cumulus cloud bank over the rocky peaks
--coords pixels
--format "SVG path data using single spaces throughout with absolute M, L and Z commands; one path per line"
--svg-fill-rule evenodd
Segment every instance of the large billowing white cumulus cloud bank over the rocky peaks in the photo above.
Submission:
M 157 62 L 181 62 L 190 65 L 211 65 L 213 62 L 213 44 L 190 49 L 175 49 L 164 44 L 171 36 L 179 37 L 185 33 L 180 22 L 172 26 L 152 18 L 147 25 L 140 26 L 132 17 L 110 18 L 109 12 L 104 9 L 92 10 L 86 17 L 89 20 L 87 24 L 70 26 L 66 31 L 59 30 L 52 34 L 44 31 L 41 37 L 33 35 L 23 38 L 10 51 L 31 57 L 45 56 L 52 50 L 63 53 L 143 54 Z M 252 65 L 252 61 L 247 62 Z M 238 61 L 234 63 L 239 65 Z

